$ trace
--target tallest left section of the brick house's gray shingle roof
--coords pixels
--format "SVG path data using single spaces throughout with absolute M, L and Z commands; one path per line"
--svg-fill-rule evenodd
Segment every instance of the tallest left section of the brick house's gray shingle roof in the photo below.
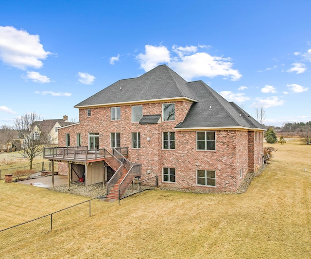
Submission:
M 161 65 L 137 78 L 119 80 L 75 107 L 176 97 L 194 99 L 186 83 L 172 69 Z

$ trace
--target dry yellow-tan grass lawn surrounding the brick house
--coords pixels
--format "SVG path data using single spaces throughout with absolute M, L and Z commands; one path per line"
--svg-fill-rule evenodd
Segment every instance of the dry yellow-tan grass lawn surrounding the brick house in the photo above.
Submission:
M 120 206 L 98 203 L 104 212 L 52 231 L 44 239 L 11 247 L 2 257 L 310 258 L 311 145 L 291 140 L 272 146 L 278 149 L 275 157 L 245 193 L 154 190 L 123 199 Z M 8 217 L 15 221 L 34 210 L 44 214 L 48 207 L 51 212 L 60 206 L 59 199 L 63 204 L 83 199 L 33 190 L 1 184 L 1 204 L 10 206 L 6 209 L 10 216 L 1 213 L 1 221 Z M 32 193 L 31 200 L 23 199 L 23 193 Z

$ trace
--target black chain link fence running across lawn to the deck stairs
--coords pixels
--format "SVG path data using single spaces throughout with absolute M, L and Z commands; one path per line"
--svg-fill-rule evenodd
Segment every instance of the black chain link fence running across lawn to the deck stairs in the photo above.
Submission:
M 154 190 L 156 187 L 157 176 L 153 176 L 144 181 L 136 178 L 132 184 L 126 188 L 121 199 L 144 190 Z M 0 251 L 9 248 L 12 244 L 17 245 L 19 243 L 31 241 L 40 236 L 43 237 L 51 230 L 74 225 L 86 217 L 102 212 L 104 207 L 101 206 L 100 200 L 104 198 L 106 198 L 106 195 L 0 230 Z

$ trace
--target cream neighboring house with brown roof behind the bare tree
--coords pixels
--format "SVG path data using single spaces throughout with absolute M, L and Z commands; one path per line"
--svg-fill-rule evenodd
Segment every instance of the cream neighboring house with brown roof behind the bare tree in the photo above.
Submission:
M 74 124 L 68 122 L 68 116 L 64 115 L 63 119 L 35 121 L 31 134 L 33 138 L 38 138 L 42 133 L 45 135 L 47 144 L 58 144 L 58 128 Z

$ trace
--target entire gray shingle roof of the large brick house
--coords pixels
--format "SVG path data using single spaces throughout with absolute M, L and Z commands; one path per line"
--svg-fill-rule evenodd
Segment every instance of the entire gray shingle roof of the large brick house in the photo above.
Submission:
M 192 104 L 185 120 L 175 128 L 245 127 L 265 129 L 238 105 L 229 103 L 202 81 L 187 82 L 176 72 L 161 65 L 131 79 L 119 80 L 75 107 L 120 104 L 135 101 L 186 97 Z M 150 123 L 155 118 L 143 117 Z M 139 122 L 139 123 L 140 123 Z

